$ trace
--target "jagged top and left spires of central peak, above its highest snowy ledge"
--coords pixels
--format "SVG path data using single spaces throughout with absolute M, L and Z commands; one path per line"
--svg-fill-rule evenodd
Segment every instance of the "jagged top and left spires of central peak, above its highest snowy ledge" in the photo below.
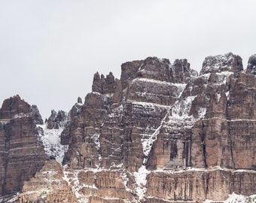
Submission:
M 93 77 L 93 92 L 113 94 L 123 89 L 136 79 L 156 80 L 167 83 L 187 83 L 190 77 L 197 76 L 197 71 L 190 68 L 187 59 L 176 59 L 173 64 L 169 59 L 148 57 L 144 60 L 125 62 L 121 65 L 120 80 L 114 79 L 110 72 L 106 77 L 96 72 Z M 120 100 L 120 93 L 115 95 L 115 102 Z M 120 101 L 118 101 L 120 102 Z

